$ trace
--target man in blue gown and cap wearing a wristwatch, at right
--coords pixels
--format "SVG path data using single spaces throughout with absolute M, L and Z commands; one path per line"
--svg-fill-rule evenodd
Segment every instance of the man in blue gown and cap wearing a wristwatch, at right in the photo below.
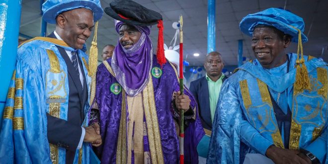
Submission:
M 269 8 L 240 29 L 256 59 L 222 86 L 207 163 L 327 164 L 328 67 L 303 55 L 303 19 Z M 297 54 L 285 53 L 290 42 Z

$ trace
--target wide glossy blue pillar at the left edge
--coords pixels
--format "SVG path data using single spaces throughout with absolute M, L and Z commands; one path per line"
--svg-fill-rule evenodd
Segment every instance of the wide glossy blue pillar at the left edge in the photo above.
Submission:
M 20 23 L 21 0 L 0 3 L 0 121 L 7 91 L 15 68 Z

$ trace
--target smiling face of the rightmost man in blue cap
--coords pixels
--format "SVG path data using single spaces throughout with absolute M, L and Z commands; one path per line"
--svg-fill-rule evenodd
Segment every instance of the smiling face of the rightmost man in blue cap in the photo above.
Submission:
M 286 62 L 285 48 L 290 38 L 271 27 L 256 27 L 253 31 L 251 47 L 263 68 L 271 69 Z

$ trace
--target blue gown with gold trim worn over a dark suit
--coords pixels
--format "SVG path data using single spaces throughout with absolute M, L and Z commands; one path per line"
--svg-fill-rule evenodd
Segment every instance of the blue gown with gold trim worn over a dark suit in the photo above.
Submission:
M 68 71 L 56 46 L 73 51 L 64 41 L 44 37 L 27 41 L 18 49 L 5 108 L 0 112 L 1 164 L 65 164 L 66 149 L 49 144 L 47 139 L 46 113 L 64 120 L 68 116 Z M 89 94 L 88 56 L 79 50 L 79 57 Z M 82 126 L 87 123 L 84 120 Z M 89 145 L 83 143 L 74 164 L 88 163 Z

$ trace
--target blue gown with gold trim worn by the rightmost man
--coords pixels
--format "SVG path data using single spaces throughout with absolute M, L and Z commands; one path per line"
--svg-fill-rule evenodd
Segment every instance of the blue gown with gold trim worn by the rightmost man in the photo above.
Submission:
M 310 90 L 296 90 L 296 54 L 289 68 L 264 69 L 257 60 L 240 67 L 222 86 L 213 121 L 208 164 L 240 164 L 247 153 L 265 156 L 270 145 L 284 148 L 272 99 L 284 113 L 291 110 L 289 149 L 306 149 L 322 163 L 327 159 L 328 66 L 305 56 Z M 286 69 L 288 68 L 288 72 Z

